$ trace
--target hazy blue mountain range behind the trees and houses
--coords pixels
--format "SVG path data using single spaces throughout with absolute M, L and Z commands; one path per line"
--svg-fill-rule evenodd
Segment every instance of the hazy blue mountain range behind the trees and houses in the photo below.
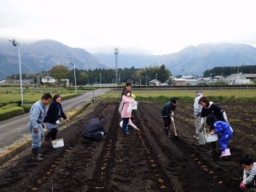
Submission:
M 0 39 L 0 78 L 19 73 L 18 46 Z M 82 48 L 71 48 L 54 40 L 40 40 L 20 44 L 22 73 L 48 71 L 52 66 L 64 64 L 71 70 L 74 62 L 79 70 L 116 68 L 114 54 L 90 54 Z M 180 52 L 166 55 L 122 54 L 119 50 L 118 68 L 145 68 L 164 64 L 172 75 L 198 74 L 222 66 L 256 65 L 256 48 L 247 44 L 202 43 L 188 46 Z

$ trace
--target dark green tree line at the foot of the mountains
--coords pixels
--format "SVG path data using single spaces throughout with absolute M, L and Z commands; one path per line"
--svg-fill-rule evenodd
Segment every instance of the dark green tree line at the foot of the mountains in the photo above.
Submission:
M 148 66 L 145 68 L 119 68 L 117 71 L 116 77 L 116 70 L 115 69 L 94 69 L 94 70 L 78 70 L 75 69 L 76 73 L 76 85 L 85 85 L 85 84 L 92 84 L 100 82 L 102 84 L 114 84 L 118 82 L 118 84 L 122 84 L 125 82 L 132 82 L 133 84 L 146 84 L 151 80 L 157 79 L 160 82 L 166 82 L 169 80 L 169 76 L 172 75 L 170 70 L 166 69 L 164 64 L 161 66 Z M 210 77 L 212 73 L 212 77 L 222 75 L 222 76 L 229 76 L 234 73 L 249 73 L 249 74 L 256 74 L 256 66 L 231 66 L 231 67 L 214 67 L 212 69 L 207 69 L 203 73 L 203 77 Z M 26 74 L 22 74 L 22 79 L 34 79 L 34 83 L 37 82 L 37 75 L 40 76 L 40 79 L 44 76 L 52 76 L 56 78 L 60 83 L 62 83 L 61 79 L 69 79 L 69 82 L 74 84 L 74 69 L 68 70 L 67 66 L 64 65 L 57 65 L 53 66 L 50 71 L 42 71 L 38 73 L 28 72 Z M 200 75 L 200 74 L 198 74 Z M 20 74 L 12 74 L 11 76 L 7 76 L 8 79 L 14 79 L 16 76 L 16 80 L 20 79 Z M 180 78 L 181 75 L 176 76 Z M 170 82 L 170 81 L 169 81 Z M 42 84 L 42 82 L 41 82 Z

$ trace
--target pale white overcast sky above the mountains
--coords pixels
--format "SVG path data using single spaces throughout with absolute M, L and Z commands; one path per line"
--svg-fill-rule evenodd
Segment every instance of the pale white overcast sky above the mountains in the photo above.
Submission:
M 255 0 L 0 0 L 0 37 L 91 54 L 170 54 L 200 43 L 256 47 Z

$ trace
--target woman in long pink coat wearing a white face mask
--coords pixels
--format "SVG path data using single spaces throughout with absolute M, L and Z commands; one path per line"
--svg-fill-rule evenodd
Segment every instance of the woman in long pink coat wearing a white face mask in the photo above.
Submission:
M 130 132 L 126 131 L 126 127 L 127 127 L 128 123 L 129 123 L 129 119 L 132 116 L 131 112 L 130 113 L 127 112 L 128 106 L 130 105 L 130 102 L 132 102 L 134 104 L 138 104 L 138 102 L 133 101 L 130 98 L 131 94 L 132 94 L 132 91 L 129 88 L 127 88 L 124 91 L 124 95 L 122 96 L 123 108 L 122 108 L 122 112 L 121 112 L 121 117 L 123 118 L 123 134 L 124 135 L 130 135 Z

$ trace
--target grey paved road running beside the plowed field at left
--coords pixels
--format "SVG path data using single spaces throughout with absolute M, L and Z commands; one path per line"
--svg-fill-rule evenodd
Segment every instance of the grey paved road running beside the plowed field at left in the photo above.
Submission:
M 61 102 L 63 111 L 65 112 L 68 109 L 90 102 L 91 97 L 103 94 L 103 92 L 107 90 L 109 89 L 98 89 L 94 92 L 87 92 L 78 97 L 64 100 Z M 47 109 L 48 107 L 46 108 L 46 111 Z M 29 133 L 28 122 L 29 113 L 0 122 L 0 148 L 12 144 L 14 141 L 22 138 L 22 134 Z

